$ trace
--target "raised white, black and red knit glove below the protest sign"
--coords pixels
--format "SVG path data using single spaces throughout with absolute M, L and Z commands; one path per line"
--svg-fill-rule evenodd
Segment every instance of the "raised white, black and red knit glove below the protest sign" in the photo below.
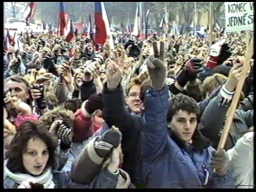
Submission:
M 230 51 L 230 46 L 225 43 L 225 39 L 220 42 L 214 43 L 210 47 L 210 59 L 208 60 L 206 66 L 214 68 L 221 65 L 225 60 L 227 60 L 232 55 Z

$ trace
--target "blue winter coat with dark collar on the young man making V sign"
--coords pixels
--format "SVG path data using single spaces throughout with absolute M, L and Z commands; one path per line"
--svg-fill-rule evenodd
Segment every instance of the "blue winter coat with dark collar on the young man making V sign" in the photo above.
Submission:
M 183 146 L 167 129 L 168 90 L 149 89 L 145 96 L 141 152 L 143 181 L 147 188 L 224 188 L 233 185 L 233 171 L 218 176 L 210 167 L 211 151 L 207 139 L 196 130 L 193 143 Z M 200 143 L 201 141 L 201 143 Z M 200 149 L 201 148 L 201 149 Z M 209 186 L 211 185 L 211 186 Z

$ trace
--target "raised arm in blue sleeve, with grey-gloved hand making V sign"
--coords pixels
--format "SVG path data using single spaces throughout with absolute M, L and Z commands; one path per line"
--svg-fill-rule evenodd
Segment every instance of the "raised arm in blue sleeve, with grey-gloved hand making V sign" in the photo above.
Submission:
M 141 152 L 143 160 L 152 163 L 159 157 L 167 142 L 168 89 L 164 88 L 167 66 L 164 63 L 164 43 L 160 42 L 160 56 L 156 42 L 153 43 L 154 56 L 148 60 L 151 88 L 145 95 L 146 126 L 142 130 Z

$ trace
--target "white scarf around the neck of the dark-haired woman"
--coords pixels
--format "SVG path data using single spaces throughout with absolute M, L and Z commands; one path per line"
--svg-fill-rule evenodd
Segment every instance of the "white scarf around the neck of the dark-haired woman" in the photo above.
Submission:
M 11 172 L 7 167 L 6 167 L 6 162 L 5 161 L 5 166 L 4 166 L 4 174 L 11 179 L 13 179 L 15 182 L 21 184 L 22 182 L 26 182 L 27 180 L 33 180 L 35 183 L 40 183 L 44 185 L 44 188 L 48 189 L 53 189 L 55 184 L 52 181 L 53 176 L 52 176 L 52 168 L 48 167 L 44 170 L 44 173 L 40 176 L 34 177 L 29 174 L 22 174 L 22 173 L 13 173 Z

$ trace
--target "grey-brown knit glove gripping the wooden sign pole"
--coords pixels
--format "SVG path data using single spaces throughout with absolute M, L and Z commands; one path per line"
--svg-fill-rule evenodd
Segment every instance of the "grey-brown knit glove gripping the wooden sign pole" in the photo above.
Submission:
M 211 168 L 216 169 L 216 173 L 223 176 L 229 168 L 229 158 L 224 149 L 212 151 Z

